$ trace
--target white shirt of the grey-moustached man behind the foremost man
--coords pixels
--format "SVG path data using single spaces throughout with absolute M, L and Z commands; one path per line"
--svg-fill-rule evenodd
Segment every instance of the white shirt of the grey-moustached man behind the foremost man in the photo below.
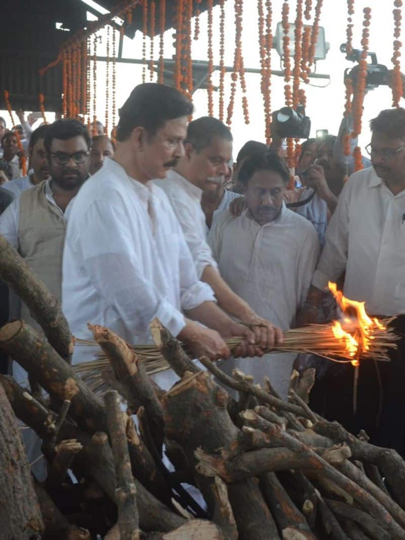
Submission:
M 205 214 L 201 208 L 203 192 L 176 171 L 168 171 L 165 180 L 154 180 L 165 191 L 174 213 L 180 221 L 188 248 L 194 259 L 198 278 L 206 266 L 217 268 L 206 240 Z

